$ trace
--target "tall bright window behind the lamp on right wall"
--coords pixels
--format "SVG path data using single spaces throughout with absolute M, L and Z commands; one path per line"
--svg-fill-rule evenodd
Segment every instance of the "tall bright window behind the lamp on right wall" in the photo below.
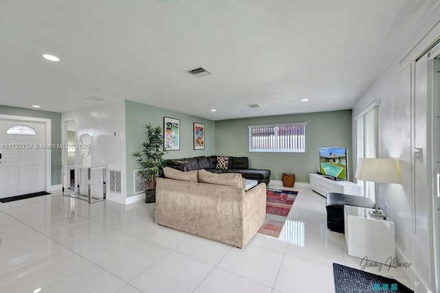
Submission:
M 377 108 L 379 101 L 375 100 L 360 115 L 355 117 L 356 122 L 356 164 L 360 158 L 377 158 Z M 364 196 L 375 202 L 375 183 L 358 180 L 364 187 Z

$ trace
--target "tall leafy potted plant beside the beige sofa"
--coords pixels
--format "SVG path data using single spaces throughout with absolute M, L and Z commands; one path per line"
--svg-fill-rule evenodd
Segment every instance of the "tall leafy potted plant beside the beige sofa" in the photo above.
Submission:
M 146 138 L 141 144 L 140 150 L 133 153 L 141 169 L 139 174 L 146 183 L 145 202 L 155 202 L 156 199 L 156 177 L 162 172 L 164 161 L 164 135 L 162 127 L 153 127 L 151 124 L 145 126 Z

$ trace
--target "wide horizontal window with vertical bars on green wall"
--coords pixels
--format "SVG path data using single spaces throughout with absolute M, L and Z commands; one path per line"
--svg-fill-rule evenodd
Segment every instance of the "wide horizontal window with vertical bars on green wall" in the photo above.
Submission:
M 250 152 L 305 152 L 306 123 L 248 126 Z

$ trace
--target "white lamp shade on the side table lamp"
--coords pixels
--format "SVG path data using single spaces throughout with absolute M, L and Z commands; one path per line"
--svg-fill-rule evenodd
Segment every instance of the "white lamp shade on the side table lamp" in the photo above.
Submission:
M 395 159 L 359 159 L 355 177 L 359 180 L 400 184 L 399 163 Z

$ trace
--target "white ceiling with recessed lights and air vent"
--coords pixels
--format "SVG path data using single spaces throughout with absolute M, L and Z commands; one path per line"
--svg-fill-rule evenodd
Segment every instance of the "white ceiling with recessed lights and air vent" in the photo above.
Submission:
M 1 0 L 0 104 L 132 99 L 213 120 L 349 109 L 438 2 Z M 198 66 L 214 75 L 185 72 Z

